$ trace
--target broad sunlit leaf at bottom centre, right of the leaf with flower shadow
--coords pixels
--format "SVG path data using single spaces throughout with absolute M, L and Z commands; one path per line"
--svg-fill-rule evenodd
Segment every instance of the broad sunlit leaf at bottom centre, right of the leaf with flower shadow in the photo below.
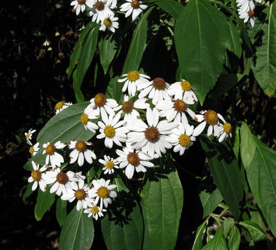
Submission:
M 152 248 L 173 249 L 183 206 L 183 190 L 177 172 L 162 174 L 158 181 L 147 181 L 143 194 L 141 206 Z

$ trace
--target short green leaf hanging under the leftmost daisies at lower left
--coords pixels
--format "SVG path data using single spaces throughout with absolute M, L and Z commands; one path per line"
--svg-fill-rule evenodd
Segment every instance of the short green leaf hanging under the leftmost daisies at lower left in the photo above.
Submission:
M 55 193 L 50 193 L 50 186 L 47 186 L 45 192 L 42 192 L 39 188 L 38 190 L 38 198 L 36 199 L 35 204 L 35 219 L 40 221 L 42 219 L 44 213 L 53 205 L 55 201 Z

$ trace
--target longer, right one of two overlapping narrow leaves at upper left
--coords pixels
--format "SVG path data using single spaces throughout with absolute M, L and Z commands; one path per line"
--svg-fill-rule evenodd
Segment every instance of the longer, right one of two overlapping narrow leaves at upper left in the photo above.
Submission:
M 81 54 L 79 55 L 79 63 L 76 67 L 76 77 L 73 77 L 73 88 L 76 96 L 76 101 L 81 102 L 84 101 L 83 94 L 81 92 L 81 83 L 83 82 L 83 78 L 92 62 L 94 57 L 94 53 L 97 48 L 97 38 L 99 33 L 99 24 L 92 28 L 92 30 L 88 33 L 86 41 L 81 48 Z

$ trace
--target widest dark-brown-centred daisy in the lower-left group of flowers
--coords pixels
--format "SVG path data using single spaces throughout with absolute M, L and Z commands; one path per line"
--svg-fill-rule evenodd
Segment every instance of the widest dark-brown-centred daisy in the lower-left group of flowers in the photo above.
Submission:
M 60 168 L 54 169 L 54 171 L 47 171 L 44 174 L 44 181 L 46 184 L 53 184 L 50 189 L 50 193 L 56 192 L 58 196 L 66 194 L 68 190 L 76 190 L 79 178 L 76 178 L 74 172 L 68 171 L 67 173 L 61 172 Z

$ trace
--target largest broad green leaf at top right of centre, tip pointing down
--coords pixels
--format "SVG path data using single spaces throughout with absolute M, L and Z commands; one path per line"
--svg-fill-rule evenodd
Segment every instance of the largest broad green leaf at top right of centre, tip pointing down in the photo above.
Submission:
M 179 65 L 201 104 L 223 71 L 228 39 L 227 19 L 209 1 L 190 0 L 177 19 L 174 40 Z

